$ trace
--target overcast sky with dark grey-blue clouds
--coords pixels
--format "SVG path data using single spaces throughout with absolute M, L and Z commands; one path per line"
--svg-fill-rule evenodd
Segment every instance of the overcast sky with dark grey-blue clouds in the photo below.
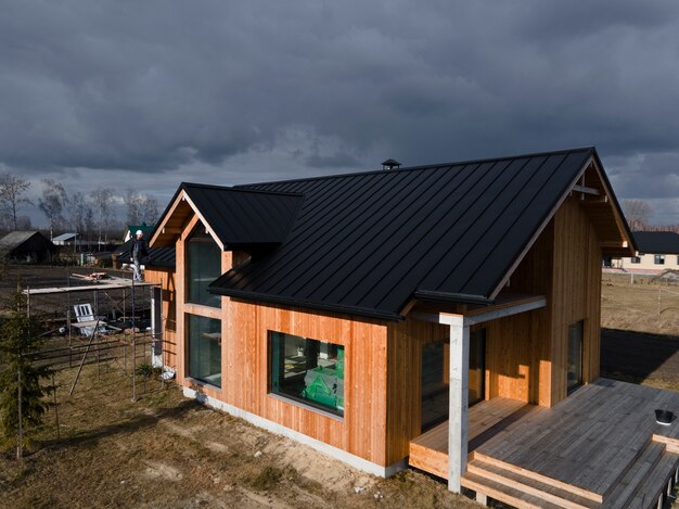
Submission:
M 54 178 L 164 207 L 181 181 L 593 144 L 620 200 L 679 224 L 676 0 L 0 9 L 0 164 L 34 194 Z

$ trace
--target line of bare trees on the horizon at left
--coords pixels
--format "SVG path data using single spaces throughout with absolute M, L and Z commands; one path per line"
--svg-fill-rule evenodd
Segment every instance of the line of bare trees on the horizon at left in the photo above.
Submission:
M 47 219 L 50 238 L 60 232 L 78 233 L 80 239 L 107 243 L 112 232 L 119 232 L 125 225 L 153 225 L 158 219 L 155 198 L 128 188 L 116 196 L 113 189 L 99 187 L 86 194 L 81 191 L 66 192 L 61 182 L 42 179 L 41 194 L 37 202 L 28 199 L 31 182 L 10 171 L 0 174 L 0 230 L 30 230 L 30 217 L 22 214 L 26 207 L 37 207 Z M 123 203 L 126 216 L 117 216 L 116 204 Z

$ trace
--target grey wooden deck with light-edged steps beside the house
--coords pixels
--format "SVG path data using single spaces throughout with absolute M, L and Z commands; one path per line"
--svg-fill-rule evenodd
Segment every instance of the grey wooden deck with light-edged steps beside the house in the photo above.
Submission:
M 491 424 L 483 441 L 484 432 L 476 433 L 474 447 L 470 433 L 462 485 L 515 507 L 655 507 L 679 468 L 679 421 L 656 423 L 656 408 L 679 416 L 679 393 L 605 379 L 553 408 L 520 407 Z M 414 466 L 446 478 L 447 443 L 443 449 L 435 430 L 412 442 Z M 425 456 L 427 463 L 418 448 L 430 446 L 435 454 Z M 436 471 L 428 469 L 433 458 Z

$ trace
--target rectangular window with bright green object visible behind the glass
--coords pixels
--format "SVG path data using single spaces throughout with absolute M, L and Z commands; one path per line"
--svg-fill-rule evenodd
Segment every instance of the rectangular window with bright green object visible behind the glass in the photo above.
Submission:
M 269 333 L 271 392 L 344 416 L 344 346 Z

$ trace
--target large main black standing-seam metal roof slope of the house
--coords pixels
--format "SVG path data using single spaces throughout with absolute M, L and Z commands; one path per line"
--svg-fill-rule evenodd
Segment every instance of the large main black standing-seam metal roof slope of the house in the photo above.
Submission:
M 413 297 L 487 302 L 591 157 L 585 148 L 239 187 L 304 202 L 285 242 L 210 291 L 392 319 Z

